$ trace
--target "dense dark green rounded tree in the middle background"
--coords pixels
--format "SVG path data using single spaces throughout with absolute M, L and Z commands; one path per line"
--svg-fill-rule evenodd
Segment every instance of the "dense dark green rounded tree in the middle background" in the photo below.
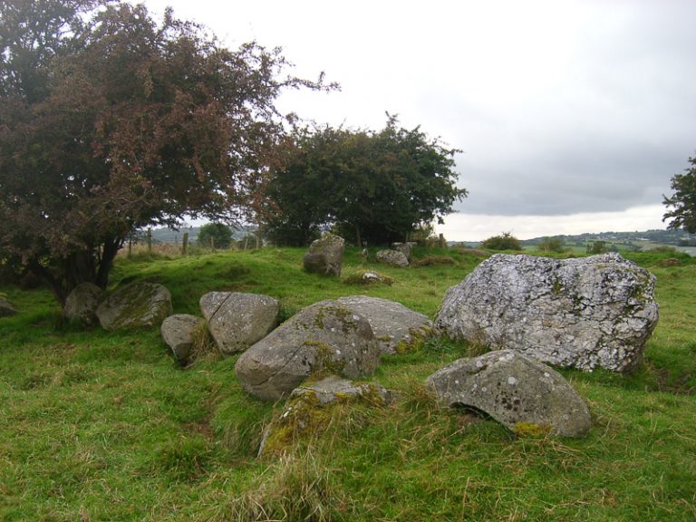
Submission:
M 277 237 L 306 242 L 322 227 L 338 227 L 360 245 L 405 240 L 433 220 L 442 223 L 467 191 L 447 149 L 420 128 L 382 131 L 343 128 L 295 131 L 285 161 L 273 170 L 268 219 Z M 276 238 L 277 242 L 277 238 Z

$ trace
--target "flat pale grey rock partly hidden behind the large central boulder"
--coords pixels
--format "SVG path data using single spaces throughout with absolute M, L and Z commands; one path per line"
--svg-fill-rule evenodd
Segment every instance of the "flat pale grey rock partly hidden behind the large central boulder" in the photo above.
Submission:
M 401 303 L 367 295 L 339 297 L 337 301 L 367 319 L 382 353 L 408 352 L 432 332 L 428 317 Z

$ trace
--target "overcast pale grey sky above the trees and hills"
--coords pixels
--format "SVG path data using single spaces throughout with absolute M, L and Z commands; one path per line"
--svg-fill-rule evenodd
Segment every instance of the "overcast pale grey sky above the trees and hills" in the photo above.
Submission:
M 145 4 L 341 84 L 284 95 L 283 111 L 371 129 L 388 111 L 464 150 L 451 240 L 662 228 L 662 194 L 696 153 L 696 1 Z

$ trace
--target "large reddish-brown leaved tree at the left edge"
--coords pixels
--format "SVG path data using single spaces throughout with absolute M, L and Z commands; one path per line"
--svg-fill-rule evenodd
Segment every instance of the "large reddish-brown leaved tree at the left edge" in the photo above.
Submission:
M 0 260 L 63 301 L 140 227 L 232 220 L 282 133 L 279 50 L 230 51 L 168 10 L 0 3 Z

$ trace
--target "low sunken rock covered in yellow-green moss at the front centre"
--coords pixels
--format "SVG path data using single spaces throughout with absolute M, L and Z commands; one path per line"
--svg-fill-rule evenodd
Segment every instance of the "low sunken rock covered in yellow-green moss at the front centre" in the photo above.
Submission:
M 266 427 L 258 456 L 282 453 L 301 437 L 320 435 L 333 417 L 334 406 L 380 407 L 389 402 L 391 392 L 380 384 L 356 383 L 335 375 L 295 388 L 283 412 Z

